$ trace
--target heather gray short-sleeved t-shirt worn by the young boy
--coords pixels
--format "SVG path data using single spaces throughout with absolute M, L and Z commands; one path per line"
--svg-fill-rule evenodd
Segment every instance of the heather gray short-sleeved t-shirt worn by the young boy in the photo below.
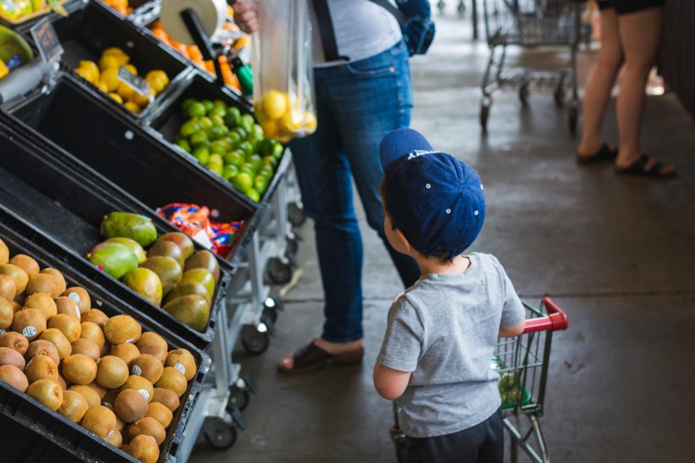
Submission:
M 425 275 L 391 305 L 377 362 L 411 371 L 396 403 L 411 437 L 471 428 L 501 405 L 490 368 L 500 326 L 525 317 L 505 269 L 493 255 L 468 255 L 463 273 Z

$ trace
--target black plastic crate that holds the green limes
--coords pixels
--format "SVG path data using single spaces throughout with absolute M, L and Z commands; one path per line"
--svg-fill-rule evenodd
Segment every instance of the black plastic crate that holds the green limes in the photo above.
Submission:
M 177 153 L 180 153 L 186 157 L 190 157 L 190 155 L 188 155 L 186 151 L 183 151 L 183 149 L 179 148 L 175 142 L 177 136 L 179 135 L 181 124 L 186 121 L 183 115 L 181 115 L 181 104 L 188 98 L 193 98 L 196 100 L 220 99 L 224 101 L 227 106 L 236 106 L 239 108 L 242 114 L 253 114 L 253 106 L 251 106 L 247 100 L 243 99 L 241 96 L 238 96 L 227 87 L 220 87 L 213 81 L 211 76 L 204 75 L 202 71 L 194 71 L 186 77 L 185 81 L 181 83 L 179 92 L 171 94 L 166 101 L 163 101 L 158 108 L 152 112 L 147 120 L 149 126 L 154 128 L 157 133 L 161 134 L 164 142 L 168 144 L 172 150 L 177 151 Z M 291 157 L 290 151 L 286 149 L 282 159 L 277 165 L 275 176 L 273 176 L 270 184 L 268 185 L 268 189 L 265 190 L 263 198 L 261 198 L 261 204 L 265 205 L 268 203 L 268 199 L 270 199 L 272 194 L 275 192 L 277 183 L 286 174 L 291 162 Z M 235 194 L 238 198 L 252 205 L 256 204 L 251 201 L 248 196 L 236 190 L 227 180 L 224 180 L 224 178 L 218 176 L 218 174 L 215 174 L 213 171 L 210 171 L 205 167 L 203 167 L 203 169 L 206 171 L 208 176 L 220 183 L 220 185 L 227 188 L 227 190 L 231 191 L 231 193 Z

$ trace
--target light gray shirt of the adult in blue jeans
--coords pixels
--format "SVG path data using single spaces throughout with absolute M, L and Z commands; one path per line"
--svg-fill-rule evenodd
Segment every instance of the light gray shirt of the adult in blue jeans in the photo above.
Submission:
M 394 3 L 393 0 L 390 0 Z M 338 54 L 350 58 L 350 62 L 378 55 L 400 42 L 402 34 L 393 15 L 370 0 L 327 0 L 333 19 Z M 394 3 L 395 5 L 395 3 Z M 315 67 L 344 65 L 345 61 L 326 62 L 323 45 L 313 5 L 311 13 L 311 40 Z

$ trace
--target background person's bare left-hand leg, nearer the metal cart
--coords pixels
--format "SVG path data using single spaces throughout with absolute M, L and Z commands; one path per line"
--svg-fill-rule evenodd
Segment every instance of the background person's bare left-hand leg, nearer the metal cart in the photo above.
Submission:
M 623 51 L 618 33 L 618 15 L 613 8 L 600 13 L 601 49 L 598 60 L 589 72 L 587 87 L 582 103 L 582 141 L 578 152 L 580 157 L 596 153 L 603 144 L 601 123 L 605 115 L 610 92 L 616 75 L 623 62 Z

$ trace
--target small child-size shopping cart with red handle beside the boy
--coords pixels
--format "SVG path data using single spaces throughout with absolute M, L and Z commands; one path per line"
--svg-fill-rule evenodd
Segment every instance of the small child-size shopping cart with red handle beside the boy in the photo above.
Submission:
M 510 461 L 516 463 L 521 449 L 532 462 L 548 463 L 550 457 L 539 418 L 543 415 L 546 398 L 553 331 L 566 330 L 568 320 L 549 297 L 543 298 L 537 309 L 527 303 L 523 305 L 526 308 L 523 334 L 498 340 L 491 368 L 500 373 L 499 389 L 503 423 L 509 432 Z M 403 462 L 407 437 L 398 426 L 395 403 L 393 413 L 395 425 L 391 428 L 391 439 L 398 461 Z

